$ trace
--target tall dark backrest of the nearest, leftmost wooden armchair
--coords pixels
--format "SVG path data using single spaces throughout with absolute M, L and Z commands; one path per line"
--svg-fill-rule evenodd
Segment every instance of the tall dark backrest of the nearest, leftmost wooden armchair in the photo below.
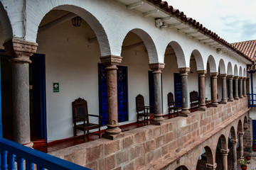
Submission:
M 78 118 L 82 118 L 85 121 L 89 121 L 88 118 L 88 109 L 87 109 L 87 101 L 83 98 L 75 99 L 72 102 L 72 110 L 73 110 L 73 123 L 80 122 Z

